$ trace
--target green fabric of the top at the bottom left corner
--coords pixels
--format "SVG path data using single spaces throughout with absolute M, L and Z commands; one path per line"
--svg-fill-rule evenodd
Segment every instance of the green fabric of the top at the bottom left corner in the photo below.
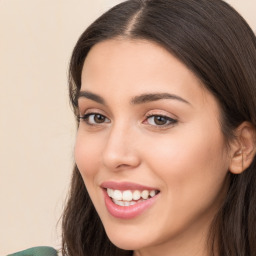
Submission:
M 57 256 L 57 251 L 52 247 L 39 246 L 27 249 L 25 251 L 16 252 L 7 256 Z

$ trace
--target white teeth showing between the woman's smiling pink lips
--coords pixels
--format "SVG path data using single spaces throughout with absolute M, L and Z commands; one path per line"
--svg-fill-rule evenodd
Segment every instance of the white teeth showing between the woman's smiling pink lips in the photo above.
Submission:
M 106 188 L 108 196 L 112 202 L 119 206 L 132 206 L 142 203 L 159 194 L 159 190 L 118 190 Z

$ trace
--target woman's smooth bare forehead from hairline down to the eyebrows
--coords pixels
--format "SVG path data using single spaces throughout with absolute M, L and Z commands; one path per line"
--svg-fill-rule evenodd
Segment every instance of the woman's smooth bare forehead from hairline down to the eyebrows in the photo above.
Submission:
M 169 92 L 200 101 L 208 93 L 194 73 L 162 46 L 120 38 L 93 46 L 84 62 L 81 90 L 103 97 Z

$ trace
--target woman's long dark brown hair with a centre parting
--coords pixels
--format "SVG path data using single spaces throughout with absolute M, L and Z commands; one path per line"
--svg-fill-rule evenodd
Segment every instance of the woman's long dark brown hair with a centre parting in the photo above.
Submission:
M 78 40 L 70 62 L 70 100 L 77 115 L 81 72 L 90 49 L 115 37 L 158 43 L 180 59 L 215 96 L 227 141 L 243 121 L 256 127 L 256 40 L 244 19 L 221 0 L 129 0 L 97 19 Z M 229 173 L 225 201 L 212 223 L 219 256 L 256 255 L 256 160 Z M 132 255 L 108 239 L 77 167 L 63 214 L 63 254 Z

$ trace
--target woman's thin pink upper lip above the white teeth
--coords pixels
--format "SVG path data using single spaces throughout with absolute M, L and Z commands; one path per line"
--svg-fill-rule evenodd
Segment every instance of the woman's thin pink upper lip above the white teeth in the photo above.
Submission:
M 105 181 L 101 183 L 102 188 L 111 188 L 117 190 L 158 190 L 157 188 L 144 186 L 132 182 L 116 182 L 116 181 Z

